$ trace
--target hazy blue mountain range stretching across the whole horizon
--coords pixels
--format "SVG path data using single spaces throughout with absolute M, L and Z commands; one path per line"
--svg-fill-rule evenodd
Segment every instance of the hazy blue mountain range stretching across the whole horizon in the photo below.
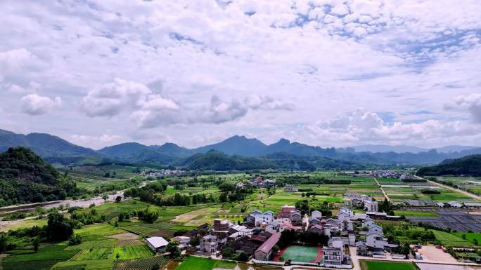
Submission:
M 136 142 L 104 147 L 94 150 L 80 147 L 66 140 L 46 133 L 30 133 L 28 135 L 16 134 L 7 130 L 0 130 L 0 151 L 9 147 L 23 146 L 32 149 L 36 154 L 46 158 L 47 161 L 58 163 L 72 163 L 72 157 L 96 157 L 100 161 L 110 159 L 124 163 L 160 163 L 174 166 L 189 166 L 195 163 L 193 159 L 210 156 L 210 160 L 223 162 L 227 157 L 237 156 L 231 163 L 241 162 L 239 158 L 258 158 L 257 162 L 264 160 L 289 163 L 290 166 L 300 166 L 291 161 L 307 162 L 316 167 L 328 164 L 342 164 L 342 166 L 359 164 L 426 164 L 440 163 L 448 158 L 460 158 L 472 154 L 481 154 L 480 147 L 451 146 L 437 149 L 422 149 L 407 146 L 359 146 L 349 148 L 322 148 L 310 146 L 299 142 L 290 142 L 281 139 L 274 144 L 264 144 L 255 138 L 235 135 L 216 144 L 209 144 L 195 149 L 180 147 L 177 144 L 165 143 L 162 145 L 144 145 Z M 226 156 L 210 153 L 211 150 L 222 152 Z M 368 150 L 368 151 L 365 151 Z M 408 152 L 405 152 L 408 151 Z M 409 152 L 411 151 L 411 152 Z M 260 158 L 260 159 L 259 159 Z M 261 161 L 262 159 L 262 161 Z M 190 161 L 190 163 L 189 163 Z M 245 160 L 243 160 L 245 161 Z M 249 162 L 254 161 L 252 159 Z M 202 162 L 205 164 L 205 161 Z M 209 166 L 207 166 L 209 167 Z

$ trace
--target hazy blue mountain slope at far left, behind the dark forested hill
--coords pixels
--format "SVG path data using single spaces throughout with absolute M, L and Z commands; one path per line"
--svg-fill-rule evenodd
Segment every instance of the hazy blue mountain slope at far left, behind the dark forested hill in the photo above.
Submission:
M 28 147 L 39 156 L 98 156 L 92 149 L 79 147 L 46 133 L 23 135 L 0 130 L 0 151 L 16 146 Z

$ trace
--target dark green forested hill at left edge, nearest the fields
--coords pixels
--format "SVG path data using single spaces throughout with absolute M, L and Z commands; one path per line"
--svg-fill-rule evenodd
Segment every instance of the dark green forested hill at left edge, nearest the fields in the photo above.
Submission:
M 25 147 L 0 154 L 0 205 L 55 201 L 75 194 L 75 183 Z

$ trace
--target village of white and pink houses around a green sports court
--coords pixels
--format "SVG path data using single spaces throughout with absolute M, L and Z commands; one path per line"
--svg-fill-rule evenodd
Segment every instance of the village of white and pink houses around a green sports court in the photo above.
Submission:
M 362 206 L 366 212 L 354 213 L 353 206 Z M 217 259 L 352 268 L 349 247 L 355 248 L 357 256 L 373 258 L 385 258 L 398 248 L 388 243 L 375 221 L 399 218 L 378 212 L 377 201 L 359 194 L 351 196 L 335 217 L 323 217 L 319 210 L 302 215 L 295 206 L 283 205 L 278 212 L 254 210 L 238 224 L 216 219 L 212 227 L 203 224 L 171 240 L 179 242 L 179 248 L 188 254 Z M 155 251 L 165 250 L 168 244 L 162 237 L 146 242 Z

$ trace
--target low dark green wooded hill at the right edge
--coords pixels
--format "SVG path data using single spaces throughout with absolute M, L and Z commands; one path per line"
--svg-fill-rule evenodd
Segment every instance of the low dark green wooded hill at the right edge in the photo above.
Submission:
M 437 166 L 423 167 L 418 175 L 469 175 L 481 176 L 481 155 L 447 159 Z

